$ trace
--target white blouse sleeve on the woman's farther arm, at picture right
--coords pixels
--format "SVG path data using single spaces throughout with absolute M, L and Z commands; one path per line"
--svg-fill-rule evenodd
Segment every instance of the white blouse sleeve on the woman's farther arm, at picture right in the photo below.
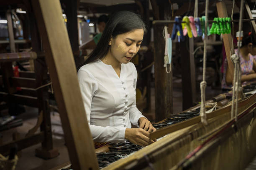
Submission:
M 137 84 L 138 74 L 137 74 L 135 65 L 133 63 L 132 63 L 132 65 L 133 65 L 133 77 L 134 77 L 133 88 L 134 88 L 135 95 L 136 95 L 136 84 Z M 133 125 L 137 126 L 138 128 L 139 128 L 139 125 L 138 125 L 139 118 L 145 117 L 142 115 L 142 113 L 138 110 L 138 108 L 136 106 L 136 97 L 134 97 L 133 105 L 131 106 L 131 109 L 129 110 L 129 117 L 130 117 L 131 123 Z

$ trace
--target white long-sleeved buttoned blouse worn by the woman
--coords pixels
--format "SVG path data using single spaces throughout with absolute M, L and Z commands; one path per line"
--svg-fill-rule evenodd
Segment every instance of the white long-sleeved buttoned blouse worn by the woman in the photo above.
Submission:
M 137 71 L 132 62 L 121 64 L 120 77 L 101 60 L 77 73 L 87 121 L 95 142 L 125 142 L 125 129 L 138 127 L 144 117 L 136 107 Z

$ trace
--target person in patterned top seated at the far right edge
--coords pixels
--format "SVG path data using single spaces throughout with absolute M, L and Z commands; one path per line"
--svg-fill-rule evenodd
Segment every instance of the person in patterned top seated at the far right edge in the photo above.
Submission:
M 235 50 L 237 53 L 237 50 Z M 240 65 L 241 65 L 241 82 L 256 80 L 256 61 L 253 58 L 256 55 L 256 41 L 251 32 L 242 40 L 240 47 Z M 228 69 L 227 59 L 224 63 L 223 79 L 221 88 L 223 91 L 231 90 L 232 79 L 230 70 Z

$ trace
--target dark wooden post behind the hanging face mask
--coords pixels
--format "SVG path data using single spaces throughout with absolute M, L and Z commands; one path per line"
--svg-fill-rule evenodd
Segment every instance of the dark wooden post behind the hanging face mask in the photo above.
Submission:
M 160 14 L 160 19 L 168 20 L 169 15 L 171 15 L 169 2 L 160 5 L 160 9 L 164 9 L 164 13 Z M 163 29 L 164 26 L 154 25 L 156 122 L 172 114 L 172 63 L 171 72 L 168 74 L 164 67 L 165 41 L 162 35 Z

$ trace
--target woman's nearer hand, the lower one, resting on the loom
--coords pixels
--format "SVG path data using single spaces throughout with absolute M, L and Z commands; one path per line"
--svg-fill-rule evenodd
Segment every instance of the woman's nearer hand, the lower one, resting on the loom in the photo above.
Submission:
M 154 143 L 154 140 L 149 138 L 149 133 L 141 128 L 126 128 L 125 139 L 136 145 L 146 146 Z

